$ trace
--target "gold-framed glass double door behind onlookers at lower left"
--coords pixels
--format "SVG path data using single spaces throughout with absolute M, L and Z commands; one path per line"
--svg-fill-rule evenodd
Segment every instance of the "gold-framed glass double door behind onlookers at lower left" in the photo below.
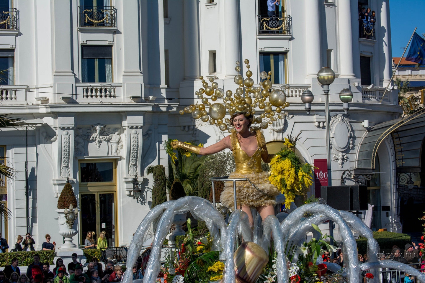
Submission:
M 105 232 L 108 247 L 116 247 L 116 207 L 115 193 L 94 192 L 81 193 L 81 243 L 88 231 L 94 233 L 94 239 L 99 237 L 99 233 Z

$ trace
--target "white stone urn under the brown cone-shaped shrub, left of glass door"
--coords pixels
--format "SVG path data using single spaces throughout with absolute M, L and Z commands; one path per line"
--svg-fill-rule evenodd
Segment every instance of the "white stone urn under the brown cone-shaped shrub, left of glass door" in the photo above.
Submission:
M 59 235 L 65 237 L 65 244 L 62 244 L 61 249 L 76 248 L 77 245 L 72 241 L 72 237 L 77 235 L 77 217 L 79 209 L 69 206 L 69 209 L 57 209 L 58 213 L 58 224 L 59 224 Z

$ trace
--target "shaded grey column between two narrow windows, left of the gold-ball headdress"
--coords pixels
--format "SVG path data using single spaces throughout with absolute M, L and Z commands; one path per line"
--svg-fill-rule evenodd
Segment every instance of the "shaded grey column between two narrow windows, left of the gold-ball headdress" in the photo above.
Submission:
M 183 1 L 184 80 L 199 77 L 198 1 Z

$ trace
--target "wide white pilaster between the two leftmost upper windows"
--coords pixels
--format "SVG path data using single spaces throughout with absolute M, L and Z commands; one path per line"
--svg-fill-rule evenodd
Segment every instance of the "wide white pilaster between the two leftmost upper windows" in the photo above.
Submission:
M 56 93 L 73 93 L 74 73 L 71 69 L 71 44 L 73 34 L 71 33 L 71 15 L 69 2 L 53 1 L 53 91 Z M 53 102 L 64 102 L 55 95 Z M 63 95 L 62 96 L 66 96 Z

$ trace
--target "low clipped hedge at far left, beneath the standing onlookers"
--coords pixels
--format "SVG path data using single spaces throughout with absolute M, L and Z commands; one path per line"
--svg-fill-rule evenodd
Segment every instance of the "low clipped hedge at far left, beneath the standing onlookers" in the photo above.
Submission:
M 2 252 L 0 253 L 0 267 L 5 267 L 12 263 L 12 258 L 19 259 L 20 266 L 28 266 L 34 262 L 34 255 L 40 256 L 40 262 L 53 264 L 56 255 L 55 251 L 31 251 L 31 252 Z

